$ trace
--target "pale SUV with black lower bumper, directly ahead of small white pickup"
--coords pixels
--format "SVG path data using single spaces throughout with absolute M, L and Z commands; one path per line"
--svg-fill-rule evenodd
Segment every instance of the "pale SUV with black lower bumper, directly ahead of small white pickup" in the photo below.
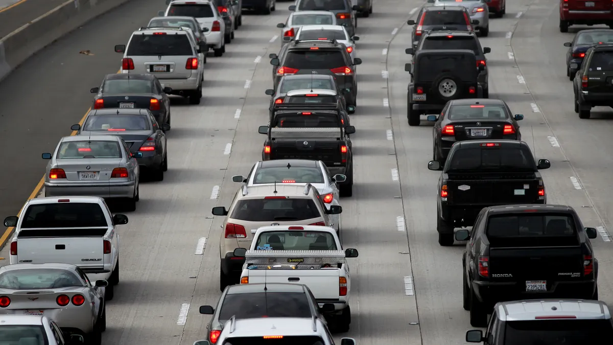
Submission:
M 335 227 L 330 215 L 343 212 L 341 206 L 324 206 L 323 198 L 311 185 L 243 185 L 230 208 L 213 207 L 213 215 L 224 215 L 219 240 L 219 290 L 237 284 L 243 271 L 244 257 L 235 257 L 234 249 L 249 249 L 257 228 L 270 225 L 319 225 Z

